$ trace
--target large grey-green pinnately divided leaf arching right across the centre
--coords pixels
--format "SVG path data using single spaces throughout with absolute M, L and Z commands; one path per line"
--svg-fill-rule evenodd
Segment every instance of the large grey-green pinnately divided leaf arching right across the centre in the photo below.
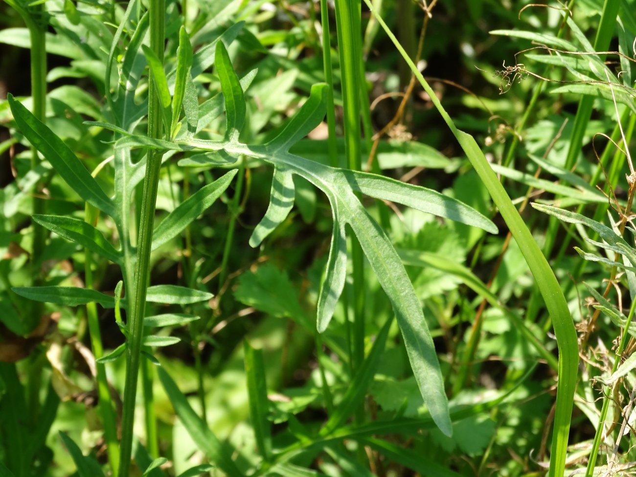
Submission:
M 450 435 L 452 427 L 448 416 L 448 400 L 422 305 L 391 241 L 384 230 L 371 218 L 369 212 L 364 209 L 359 198 L 356 197 L 356 192 L 391 200 L 397 204 L 437 214 L 467 225 L 478 226 L 488 232 L 497 232 L 497 227 L 472 207 L 436 191 L 383 176 L 328 167 L 289 153 L 288 150 L 293 143 L 310 132 L 324 118 L 327 88 L 324 84 L 312 86 L 309 99 L 287 121 L 282 132 L 272 141 L 254 146 L 240 144 L 239 130 L 245 116 L 243 90 L 239 78 L 232 69 L 225 46 L 219 42 L 216 48 L 216 69 L 221 78 L 221 90 L 226 105 L 225 141 L 207 141 L 188 137 L 174 142 L 162 141 L 160 145 L 146 143 L 137 137 L 128 137 L 120 140 L 120 146 L 123 146 L 125 142 L 127 146 L 149 148 L 225 151 L 230 156 L 244 155 L 271 163 L 275 173 L 270 207 L 265 218 L 254 231 L 250 240 L 251 245 L 258 245 L 286 218 L 294 197 L 291 183 L 291 177 L 294 174 L 322 190 L 333 211 L 334 233 L 317 309 L 319 331 L 323 331 L 328 326 L 336 303 L 342 294 L 347 265 L 345 226 L 348 224 L 391 301 L 402 331 L 411 368 L 432 418 L 445 434 Z

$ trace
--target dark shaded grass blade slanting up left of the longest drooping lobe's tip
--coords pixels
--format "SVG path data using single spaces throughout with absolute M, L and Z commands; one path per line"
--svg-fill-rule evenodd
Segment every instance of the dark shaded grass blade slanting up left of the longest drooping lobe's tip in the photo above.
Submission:
M 375 370 L 377 370 L 382 354 L 384 354 L 384 345 L 387 342 L 392 321 L 392 318 L 388 319 L 375 337 L 371 351 L 368 356 L 364 358 L 363 363 L 356 370 L 356 373 L 354 373 L 354 378 L 349 387 L 347 387 L 345 396 L 342 398 L 342 401 L 340 401 L 340 404 L 338 404 L 338 407 L 331 413 L 329 420 L 322 426 L 320 431 L 321 436 L 328 436 L 331 432 L 338 429 L 363 403 L 366 393 L 373 382 Z

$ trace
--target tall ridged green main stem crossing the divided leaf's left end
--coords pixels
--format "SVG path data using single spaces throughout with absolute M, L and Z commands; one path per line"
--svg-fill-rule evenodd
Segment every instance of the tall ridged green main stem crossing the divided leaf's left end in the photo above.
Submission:
M 150 0 L 148 3 L 150 20 L 150 49 L 163 60 L 165 38 L 165 0 Z M 151 79 L 152 81 L 152 79 Z M 148 89 L 148 136 L 162 137 L 161 104 L 155 88 Z M 123 414 L 121 418 L 121 460 L 120 477 L 130 474 L 130 457 L 132 453 L 133 425 L 135 419 L 135 399 L 137 397 L 137 376 L 141 361 L 143 321 L 146 308 L 146 291 L 149 283 L 150 252 L 152 232 L 155 223 L 155 206 L 162 153 L 150 151 L 146 162 L 146 175 L 141 203 L 141 219 L 139 221 L 139 242 L 137 263 L 135 263 L 135 283 L 132 296 L 128 297 L 130 320 L 128 321 L 128 347 L 126 350 L 126 380 L 123 397 Z

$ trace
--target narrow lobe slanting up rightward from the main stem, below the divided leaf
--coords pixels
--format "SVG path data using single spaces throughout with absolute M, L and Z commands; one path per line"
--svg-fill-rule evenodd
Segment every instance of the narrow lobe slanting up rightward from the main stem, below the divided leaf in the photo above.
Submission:
M 153 232 L 152 249 L 161 245 L 183 232 L 192 221 L 200 216 L 221 194 L 228 188 L 238 169 L 230 170 L 227 174 L 216 179 L 212 184 L 200 188 L 190 197 L 179 204 L 174 211 L 161 221 Z

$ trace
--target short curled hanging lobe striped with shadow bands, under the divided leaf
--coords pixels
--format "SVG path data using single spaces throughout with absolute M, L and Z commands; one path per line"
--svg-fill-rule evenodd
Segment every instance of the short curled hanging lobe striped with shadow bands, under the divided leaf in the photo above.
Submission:
M 286 218 L 294 205 L 294 179 L 291 171 L 276 167 L 272 177 L 270 205 L 265 216 L 254 228 L 249 245 L 258 247 L 272 231 Z

